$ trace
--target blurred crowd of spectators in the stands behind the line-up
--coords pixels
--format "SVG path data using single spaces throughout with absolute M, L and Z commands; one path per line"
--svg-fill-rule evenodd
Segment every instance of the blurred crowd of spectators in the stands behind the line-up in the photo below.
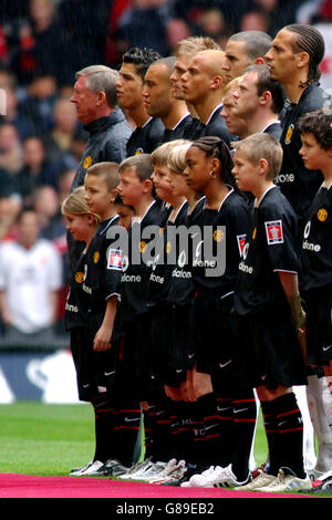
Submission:
M 33 208 L 39 236 L 52 242 L 62 262 L 58 334 L 64 334 L 69 282 L 60 206 L 87 139 L 71 103 L 75 72 L 96 63 L 117 69 L 132 46 L 166 56 L 189 35 L 209 35 L 225 48 L 235 32 L 273 37 L 289 23 L 330 28 L 331 21 L 331 0 L 2 0 L 0 241 L 15 239 L 17 216 Z

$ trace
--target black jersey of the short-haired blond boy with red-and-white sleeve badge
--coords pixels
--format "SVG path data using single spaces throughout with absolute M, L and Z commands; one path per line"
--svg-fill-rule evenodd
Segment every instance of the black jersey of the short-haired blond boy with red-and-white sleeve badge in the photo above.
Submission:
M 284 300 L 278 271 L 299 272 L 297 226 L 297 215 L 277 186 L 264 194 L 259 207 L 252 206 L 239 263 L 237 314 L 255 314 Z

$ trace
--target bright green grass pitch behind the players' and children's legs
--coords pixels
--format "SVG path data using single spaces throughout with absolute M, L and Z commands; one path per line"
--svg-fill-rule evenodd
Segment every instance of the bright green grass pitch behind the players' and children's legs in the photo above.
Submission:
M 94 453 L 93 409 L 89 404 L 50 405 L 18 402 L 0 405 L 0 472 L 68 476 Z M 259 418 L 255 457 L 267 457 Z

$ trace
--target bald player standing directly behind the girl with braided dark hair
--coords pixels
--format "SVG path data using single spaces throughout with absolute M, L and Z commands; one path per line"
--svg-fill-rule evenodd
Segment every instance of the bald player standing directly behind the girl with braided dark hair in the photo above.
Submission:
M 224 59 L 225 52 L 221 50 L 198 52 L 183 75 L 181 85 L 184 98 L 194 106 L 200 121 L 200 135 L 215 135 L 229 145 L 234 137 L 220 117 L 225 89 Z

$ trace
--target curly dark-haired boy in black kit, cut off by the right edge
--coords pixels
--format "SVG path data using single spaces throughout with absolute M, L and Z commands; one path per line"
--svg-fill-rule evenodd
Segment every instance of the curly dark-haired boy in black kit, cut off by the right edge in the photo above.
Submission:
M 315 478 L 332 468 L 331 393 L 326 393 L 330 399 L 323 398 L 324 375 L 325 383 L 331 382 L 332 376 L 331 124 L 331 110 L 320 110 L 301 117 L 298 126 L 302 142 L 300 156 L 308 175 L 312 169 L 319 169 L 324 179 L 307 215 L 301 252 L 302 295 L 307 311 L 305 361 L 312 367 L 308 381 L 313 389 L 308 402 L 319 448 L 313 469 Z

